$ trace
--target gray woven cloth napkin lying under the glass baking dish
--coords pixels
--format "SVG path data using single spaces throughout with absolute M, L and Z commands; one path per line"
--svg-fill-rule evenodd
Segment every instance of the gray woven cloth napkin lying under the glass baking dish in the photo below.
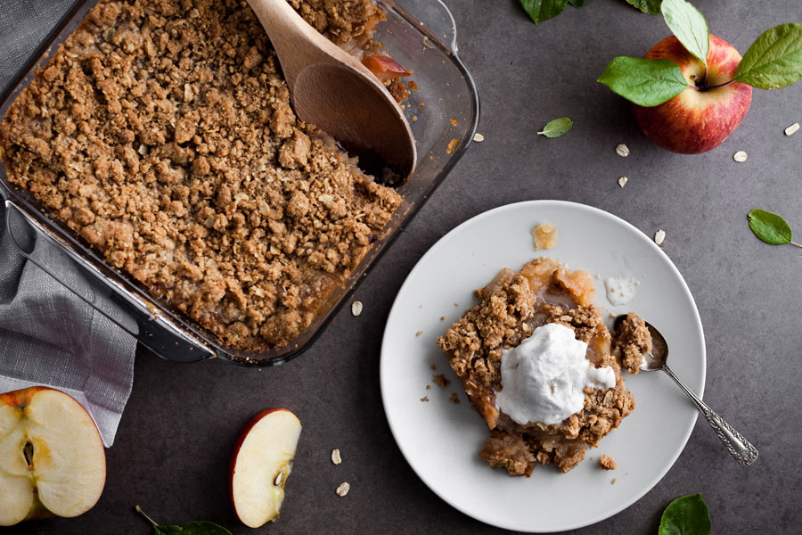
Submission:
M 0 90 L 72 4 L 0 2 Z M 0 204 L 0 392 L 34 384 L 67 392 L 92 415 L 109 447 L 131 394 L 135 338 L 70 292 L 65 284 L 113 307 L 74 265 L 63 276 L 67 280 L 55 280 L 20 254 L 5 225 Z M 53 257 L 72 262 L 57 253 Z

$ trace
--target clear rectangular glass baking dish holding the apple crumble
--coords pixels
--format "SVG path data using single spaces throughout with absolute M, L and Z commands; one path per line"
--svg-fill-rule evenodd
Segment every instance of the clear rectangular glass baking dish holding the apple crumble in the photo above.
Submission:
M 246 351 L 221 342 L 184 314 L 155 300 L 143 284 L 106 264 L 68 226 L 12 185 L 0 163 L 0 194 L 6 228 L 22 254 L 60 281 L 78 270 L 94 295 L 76 294 L 110 317 L 139 342 L 168 360 L 192 362 L 223 358 L 250 366 L 273 366 L 298 356 L 348 302 L 356 286 L 376 265 L 471 144 L 479 121 L 479 96 L 471 72 L 457 55 L 454 18 L 440 0 L 378 0 L 387 21 L 376 30 L 386 53 L 413 70 L 417 84 L 404 109 L 415 137 L 418 164 L 413 177 L 398 188 L 403 202 L 372 248 L 343 286 L 331 295 L 307 329 L 291 343 L 273 350 Z M 50 51 L 78 27 L 97 0 L 79 2 L 45 40 L 28 66 L 0 97 L 0 117 L 45 66 Z M 422 105 L 422 107 L 421 107 Z M 70 290 L 74 289 L 70 288 Z

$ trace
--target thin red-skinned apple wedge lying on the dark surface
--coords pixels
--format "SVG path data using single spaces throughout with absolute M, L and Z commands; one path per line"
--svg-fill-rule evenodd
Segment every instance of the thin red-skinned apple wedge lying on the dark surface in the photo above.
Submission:
M 267 408 L 242 427 L 229 475 L 234 511 L 246 526 L 278 518 L 300 430 L 299 419 L 286 408 Z

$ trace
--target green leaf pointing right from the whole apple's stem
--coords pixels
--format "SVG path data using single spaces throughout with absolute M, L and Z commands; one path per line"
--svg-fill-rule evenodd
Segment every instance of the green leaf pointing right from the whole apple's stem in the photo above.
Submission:
M 758 89 L 780 89 L 802 78 L 802 24 L 766 30 L 743 54 L 735 81 Z

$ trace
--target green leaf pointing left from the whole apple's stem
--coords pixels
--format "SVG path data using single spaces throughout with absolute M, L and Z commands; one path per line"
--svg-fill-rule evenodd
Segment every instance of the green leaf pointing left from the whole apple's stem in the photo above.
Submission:
M 640 106 L 657 106 L 688 88 L 679 65 L 671 60 L 618 56 L 597 80 L 613 93 Z

